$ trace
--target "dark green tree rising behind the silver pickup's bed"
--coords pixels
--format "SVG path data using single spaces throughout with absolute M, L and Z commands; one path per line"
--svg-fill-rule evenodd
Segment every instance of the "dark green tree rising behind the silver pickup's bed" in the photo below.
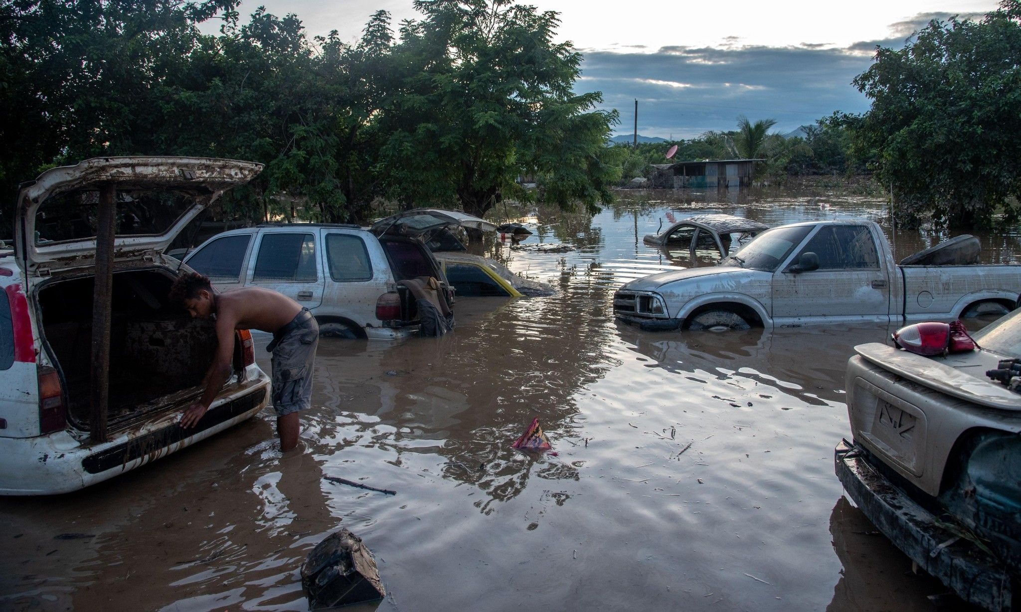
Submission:
M 1021 193 L 1021 2 L 980 21 L 933 20 L 904 49 L 878 48 L 854 84 L 872 108 L 850 118 L 855 149 L 898 213 L 951 227 L 987 226 L 1018 213 Z

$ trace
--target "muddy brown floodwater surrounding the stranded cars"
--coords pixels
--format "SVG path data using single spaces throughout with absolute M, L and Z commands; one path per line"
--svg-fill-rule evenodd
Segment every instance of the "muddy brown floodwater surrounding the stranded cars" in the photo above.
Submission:
M 0 500 L 0 608 L 304 610 L 301 560 L 344 526 L 376 555 L 380 610 L 933 609 L 945 590 L 833 474 L 844 363 L 889 329 L 614 321 L 616 287 L 684 264 L 641 237 L 708 211 L 884 220 L 878 199 L 823 191 L 625 193 L 591 219 L 525 215 L 535 236 L 498 255 L 558 293 L 461 299 L 440 339 L 323 339 L 302 452 L 280 456 L 264 412 L 78 494 Z M 900 255 L 938 238 L 902 234 Z M 1016 234 L 982 239 L 986 261 L 1021 253 Z M 555 243 L 571 250 L 536 246 Z M 556 455 L 510 449 L 536 416 Z

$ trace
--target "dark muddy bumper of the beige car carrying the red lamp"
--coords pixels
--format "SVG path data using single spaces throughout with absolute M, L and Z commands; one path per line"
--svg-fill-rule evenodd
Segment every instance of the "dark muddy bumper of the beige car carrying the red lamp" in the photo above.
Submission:
M 987 610 L 1017 610 L 1017 579 L 1007 566 L 939 521 L 876 470 L 863 449 L 841 441 L 834 452 L 836 475 L 862 512 L 912 561 L 961 599 Z

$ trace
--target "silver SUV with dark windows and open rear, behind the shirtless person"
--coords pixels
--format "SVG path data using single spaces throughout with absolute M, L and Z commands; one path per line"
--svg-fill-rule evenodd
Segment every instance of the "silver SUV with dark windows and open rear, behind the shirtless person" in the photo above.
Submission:
M 185 263 L 226 291 L 264 287 L 295 300 L 327 336 L 395 340 L 419 330 L 415 297 L 399 284 L 419 276 L 453 292 L 425 239 L 450 225 L 493 225 L 460 212 L 416 209 L 370 227 L 277 223 L 213 236 Z

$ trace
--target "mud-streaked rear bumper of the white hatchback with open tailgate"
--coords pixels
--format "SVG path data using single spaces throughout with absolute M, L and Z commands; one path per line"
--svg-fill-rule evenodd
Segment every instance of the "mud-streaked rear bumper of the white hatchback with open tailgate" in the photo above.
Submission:
M 65 429 L 37 438 L 0 438 L 0 495 L 69 493 L 164 457 L 251 418 L 270 399 L 264 373 L 222 395 L 199 423 L 183 429 L 180 412 L 91 444 Z

